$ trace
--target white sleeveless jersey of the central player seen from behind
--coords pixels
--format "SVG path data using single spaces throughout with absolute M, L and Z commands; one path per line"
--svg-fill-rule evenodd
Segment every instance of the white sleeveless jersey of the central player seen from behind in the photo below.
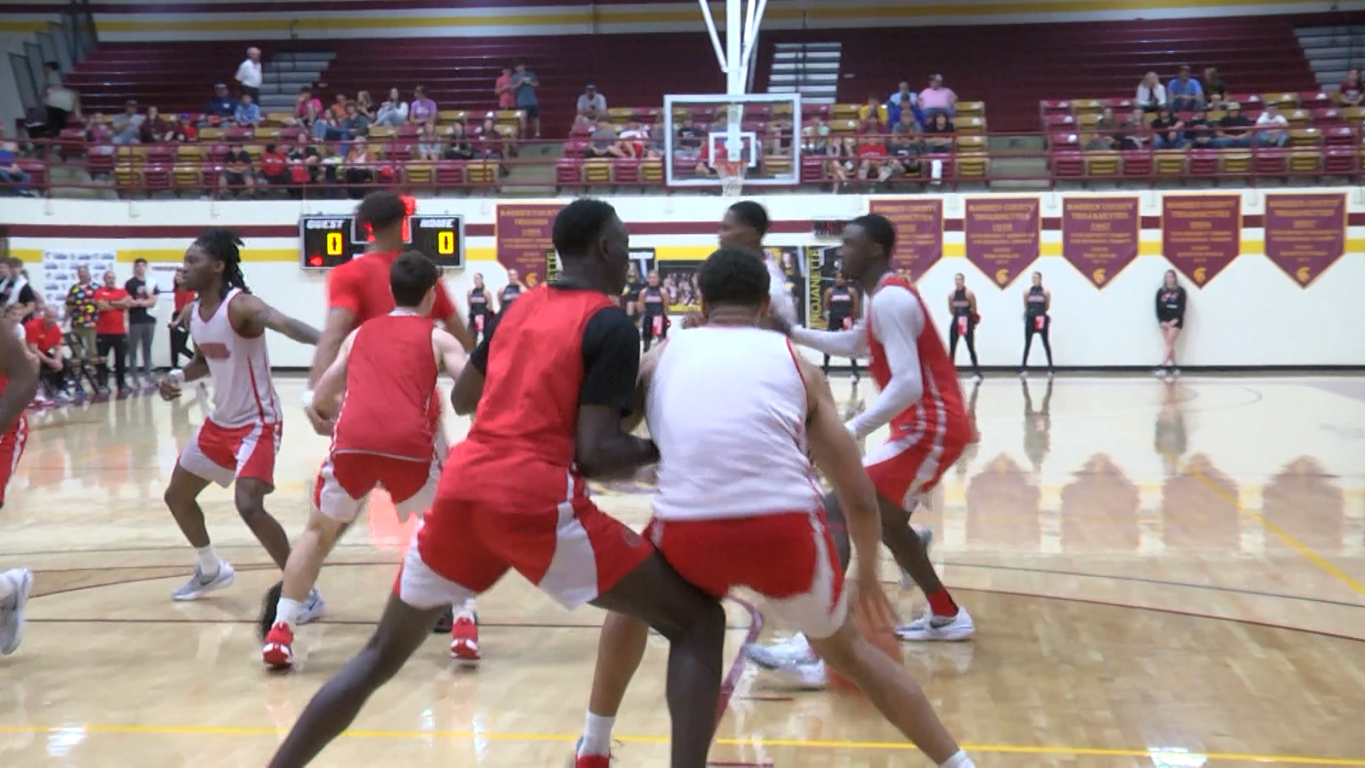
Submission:
M 702 327 L 667 340 L 650 383 L 661 519 L 747 518 L 820 506 L 805 455 L 805 383 L 781 333 Z

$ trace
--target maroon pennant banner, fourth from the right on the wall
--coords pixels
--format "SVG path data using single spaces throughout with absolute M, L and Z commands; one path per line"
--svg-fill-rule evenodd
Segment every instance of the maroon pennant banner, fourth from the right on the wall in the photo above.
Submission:
M 1006 287 L 1039 257 L 1039 200 L 1036 197 L 979 197 L 966 201 L 962 232 L 966 258 L 996 287 Z

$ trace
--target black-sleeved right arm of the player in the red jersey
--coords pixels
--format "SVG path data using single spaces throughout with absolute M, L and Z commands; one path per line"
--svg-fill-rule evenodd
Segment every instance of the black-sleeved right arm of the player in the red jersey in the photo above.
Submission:
M 635 411 L 639 373 L 640 342 L 631 318 L 616 306 L 594 314 L 583 333 L 583 385 L 573 440 L 583 477 L 629 476 L 659 461 L 652 440 L 622 429 L 622 418 Z

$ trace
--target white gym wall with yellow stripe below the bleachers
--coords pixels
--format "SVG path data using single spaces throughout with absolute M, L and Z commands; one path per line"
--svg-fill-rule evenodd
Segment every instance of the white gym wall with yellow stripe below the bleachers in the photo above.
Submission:
M 1276 190 L 1282 191 L 1282 190 Z M 1283 190 L 1321 191 L 1321 190 Z M 961 195 L 945 195 L 945 215 L 962 215 Z M 1041 195 L 1043 216 L 1061 213 L 1062 195 Z M 1259 191 L 1244 193 L 1244 215 L 1259 215 L 1263 198 Z M 774 221 L 853 217 L 868 208 L 859 195 L 771 195 L 759 198 L 768 206 Z M 516 201 L 528 202 L 528 201 Z M 612 198 L 628 224 L 651 223 L 654 227 L 678 227 L 685 223 L 718 221 L 728 204 L 717 197 L 620 197 Z M 425 200 L 422 213 L 463 215 L 470 224 L 491 224 L 491 200 Z M 1144 216 L 1160 215 L 1156 193 L 1141 195 Z M 348 212 L 347 201 L 311 202 L 306 212 Z M 1365 212 L 1362 190 L 1351 190 L 1349 209 Z M 120 280 L 131 272 L 131 261 L 143 256 L 153 261 L 180 257 L 190 238 L 179 239 L 85 239 L 82 227 L 91 225 L 293 225 L 304 206 L 293 202 L 90 202 L 75 200 L 5 200 L 0 205 L 0 223 L 44 224 L 61 227 L 63 236 L 14 238 L 11 250 L 30 261 L 30 275 L 42 286 L 41 266 L 35 264 L 42 249 L 119 251 Z M 920 291 L 940 333 L 946 331 L 946 297 L 953 275 L 962 272 L 976 291 L 983 324 L 977 331 L 981 364 L 1016 366 L 1022 351 L 1021 291 L 1026 275 L 1005 291 L 998 290 L 976 266 L 961 257 L 964 236 L 947 232 L 946 258 L 920 280 Z M 1153 314 L 1153 295 L 1162 273 L 1170 264 L 1159 254 L 1160 232 L 1141 232 L 1144 256 L 1140 256 L 1103 291 L 1096 290 L 1076 268 L 1058 254 L 1061 232 L 1043 232 L 1043 258 L 1032 269 L 1043 272 L 1052 291 L 1052 347 L 1059 366 L 1147 366 L 1162 353 Z M 1347 231 L 1347 254 L 1323 273 L 1312 286 L 1301 288 L 1261 254 L 1263 231 L 1242 232 L 1242 256 L 1234 260 L 1204 288 L 1185 282 L 1190 309 L 1181 342 L 1185 366 L 1361 366 L 1365 365 L 1365 227 Z M 632 246 L 654 247 L 659 258 L 704 257 L 715 239 L 707 225 L 703 234 L 635 235 Z M 814 245 L 809 234 L 770 235 L 768 245 Z M 325 312 L 325 277 L 298 265 L 296 238 L 247 238 L 244 272 L 253 290 L 265 301 L 300 318 L 321 324 Z M 487 283 L 505 282 L 502 269 L 493 261 L 491 236 L 467 239 L 468 266 L 448 275 L 450 290 L 463 298 L 474 272 Z M 164 312 L 169 312 L 164 307 Z M 160 344 L 158 344 L 160 346 Z M 161 351 L 160 354 L 165 354 Z M 1039 353 L 1035 351 L 1035 355 Z M 307 365 L 308 351 L 288 340 L 272 342 L 276 365 Z M 962 355 L 960 350 L 960 355 Z M 965 359 L 965 355 L 960 357 Z M 1035 361 L 1041 359 L 1035 357 Z

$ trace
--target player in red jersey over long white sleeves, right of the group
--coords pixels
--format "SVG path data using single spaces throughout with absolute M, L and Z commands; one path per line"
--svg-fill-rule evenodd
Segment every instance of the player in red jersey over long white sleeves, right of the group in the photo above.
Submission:
M 924 310 L 919 292 L 891 273 L 895 228 L 875 213 L 852 220 L 844 231 L 844 273 L 860 286 L 872 286 L 864 320 L 849 331 L 790 329 L 792 339 L 839 357 L 871 355 L 871 372 L 880 392 L 845 424 L 863 440 L 890 422 L 890 440 L 864 458 L 876 486 L 882 510 L 882 541 L 895 563 L 928 599 L 925 614 L 895 634 L 910 641 L 960 641 L 976 631 L 972 616 L 957 605 L 934 571 L 925 541 L 909 526 L 916 499 L 938 485 L 939 478 L 975 440 L 975 429 L 943 343 Z M 839 562 L 848 563 L 842 545 L 844 514 L 837 496 L 824 500 Z M 775 648 L 749 649 L 760 667 L 781 668 L 807 687 L 823 687 L 824 664 L 811 653 L 803 635 Z

